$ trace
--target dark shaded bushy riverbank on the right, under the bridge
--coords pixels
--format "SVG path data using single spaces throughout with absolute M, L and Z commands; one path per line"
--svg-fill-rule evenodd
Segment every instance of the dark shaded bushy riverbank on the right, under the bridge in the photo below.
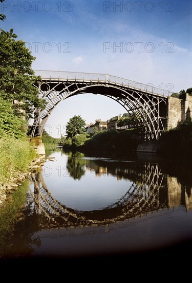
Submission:
M 85 140 L 80 146 L 63 143 L 63 149 L 81 152 L 101 152 L 127 155 L 134 152 L 154 152 L 161 157 L 192 158 L 192 122 L 185 121 L 178 127 L 164 131 L 158 140 L 142 141 L 132 130 L 101 131 Z

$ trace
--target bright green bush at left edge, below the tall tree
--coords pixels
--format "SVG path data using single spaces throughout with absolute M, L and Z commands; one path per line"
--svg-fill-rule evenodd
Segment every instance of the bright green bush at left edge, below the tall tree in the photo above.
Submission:
M 0 91 L 0 138 L 5 134 L 11 137 L 23 138 L 25 135 L 25 121 L 14 115 L 12 104 L 4 100 L 3 96 L 3 91 Z

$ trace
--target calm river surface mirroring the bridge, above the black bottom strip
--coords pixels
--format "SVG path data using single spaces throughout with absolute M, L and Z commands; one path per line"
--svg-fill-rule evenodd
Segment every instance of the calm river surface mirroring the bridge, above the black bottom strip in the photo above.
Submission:
M 154 157 L 58 149 L 20 191 L 22 199 L 14 192 L 1 208 L 2 258 L 126 254 L 191 243 L 190 170 Z

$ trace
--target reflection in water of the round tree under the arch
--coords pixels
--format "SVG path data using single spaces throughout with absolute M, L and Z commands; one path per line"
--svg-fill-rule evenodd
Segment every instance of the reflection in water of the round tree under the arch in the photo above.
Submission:
M 80 180 L 81 177 L 86 172 L 84 170 L 84 162 L 79 156 L 79 153 L 72 153 L 70 156 L 68 156 L 67 161 L 67 170 L 71 177 L 73 177 L 74 180 Z

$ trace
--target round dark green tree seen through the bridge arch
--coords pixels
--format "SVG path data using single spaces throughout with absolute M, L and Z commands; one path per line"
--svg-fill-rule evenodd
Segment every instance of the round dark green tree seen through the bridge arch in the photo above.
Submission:
M 67 138 L 70 137 L 73 139 L 73 137 L 76 135 L 82 134 L 85 126 L 86 122 L 81 118 L 80 115 L 73 116 L 73 118 L 69 119 L 69 122 L 66 126 Z

